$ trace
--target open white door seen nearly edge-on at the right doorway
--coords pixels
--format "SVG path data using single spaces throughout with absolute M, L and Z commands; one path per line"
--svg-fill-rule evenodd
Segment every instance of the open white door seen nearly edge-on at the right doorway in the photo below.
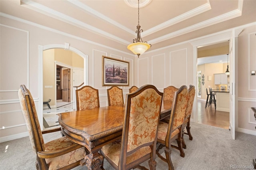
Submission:
M 235 31 L 232 30 L 232 36 L 230 37 L 229 42 L 229 55 L 230 58 L 230 113 L 229 113 L 229 128 L 231 132 L 232 139 L 235 140 Z

